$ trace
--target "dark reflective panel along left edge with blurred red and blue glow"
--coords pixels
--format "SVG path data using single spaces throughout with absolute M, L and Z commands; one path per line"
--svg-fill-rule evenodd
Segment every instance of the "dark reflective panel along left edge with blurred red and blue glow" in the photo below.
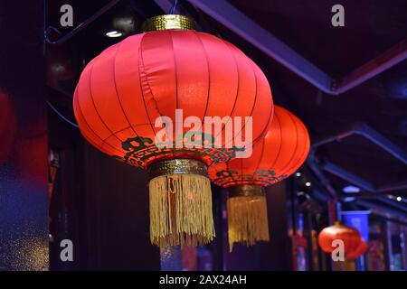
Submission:
M 0 33 L 0 88 L 13 107 L 7 129 L 15 136 L 0 160 L 0 271 L 47 270 L 43 2 L 2 2 Z

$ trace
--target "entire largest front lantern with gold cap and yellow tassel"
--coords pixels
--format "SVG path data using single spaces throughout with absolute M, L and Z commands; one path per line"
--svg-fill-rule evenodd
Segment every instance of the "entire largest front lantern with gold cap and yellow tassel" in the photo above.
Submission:
M 208 243 L 214 229 L 206 166 L 230 160 L 241 147 L 228 146 L 225 138 L 219 142 L 224 129 L 208 137 L 194 127 L 197 134 L 187 140 L 191 124 L 185 125 L 177 109 L 182 118 L 202 122 L 204 117 L 252 117 L 256 142 L 272 118 L 269 83 L 239 49 L 193 31 L 185 16 L 157 16 L 145 27 L 149 32 L 110 46 L 86 66 L 75 90 L 75 117 L 90 144 L 150 172 L 153 244 Z M 171 122 L 164 148 L 155 141 L 163 117 Z M 246 137 L 243 127 L 233 127 L 233 135 Z M 177 145 L 199 138 L 213 145 Z

